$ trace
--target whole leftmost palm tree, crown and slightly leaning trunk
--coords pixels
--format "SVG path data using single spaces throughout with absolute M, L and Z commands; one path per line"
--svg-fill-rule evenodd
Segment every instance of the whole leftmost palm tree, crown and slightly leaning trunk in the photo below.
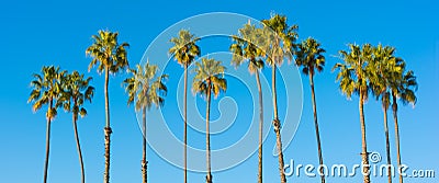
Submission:
M 34 80 L 31 81 L 33 88 L 27 103 L 33 102 L 32 110 L 34 112 L 47 105 L 46 118 L 46 160 L 44 163 L 43 182 L 47 182 L 48 156 L 50 151 L 50 125 L 57 115 L 57 108 L 60 106 L 58 99 L 63 92 L 61 84 L 64 82 L 65 71 L 59 71 L 59 67 L 44 66 L 42 75 L 34 73 Z

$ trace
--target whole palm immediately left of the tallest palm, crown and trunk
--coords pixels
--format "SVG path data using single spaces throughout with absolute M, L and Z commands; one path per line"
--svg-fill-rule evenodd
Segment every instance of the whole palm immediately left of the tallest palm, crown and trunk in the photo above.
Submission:
M 234 36 L 234 44 L 230 45 L 230 50 L 234 54 L 232 64 L 239 67 L 244 61 L 248 61 L 248 71 L 256 76 L 256 83 L 259 92 L 259 152 L 258 152 L 258 183 L 262 183 L 262 127 L 263 127 L 263 105 L 262 105 L 262 87 L 259 79 L 259 72 L 263 68 L 261 49 L 256 45 L 258 33 L 260 30 L 255 25 L 245 24 L 239 30 L 239 36 Z

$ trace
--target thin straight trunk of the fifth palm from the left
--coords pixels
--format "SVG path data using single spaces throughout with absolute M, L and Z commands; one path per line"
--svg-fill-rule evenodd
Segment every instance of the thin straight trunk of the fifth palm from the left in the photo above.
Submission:
M 188 183 L 188 65 L 184 65 L 184 183 Z

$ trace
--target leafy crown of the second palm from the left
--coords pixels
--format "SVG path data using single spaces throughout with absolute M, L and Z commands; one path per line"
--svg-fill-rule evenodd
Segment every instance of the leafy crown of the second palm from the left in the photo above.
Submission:
M 60 101 L 64 102 L 63 107 L 67 112 L 72 112 L 81 117 L 87 115 L 87 110 L 82 107 L 85 101 L 91 103 L 94 94 L 94 88 L 90 85 L 91 77 L 85 78 L 83 73 L 74 71 L 67 75 L 66 81 L 63 84 L 64 92 Z M 77 118 L 76 118 L 77 119 Z

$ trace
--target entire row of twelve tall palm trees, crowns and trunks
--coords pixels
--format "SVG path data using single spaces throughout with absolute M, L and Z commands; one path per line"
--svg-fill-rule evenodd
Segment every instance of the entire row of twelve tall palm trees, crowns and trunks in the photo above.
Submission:
M 320 182 L 325 182 L 323 170 L 323 151 L 320 146 L 319 127 L 317 121 L 317 106 L 314 90 L 314 76 L 323 71 L 325 66 L 325 49 L 314 38 L 309 37 L 301 43 L 296 43 L 299 38 L 297 25 L 289 25 L 286 16 L 273 14 L 268 20 L 262 20 L 262 27 L 250 24 L 248 22 L 238 30 L 238 34 L 233 36 L 233 43 L 229 47 L 233 53 L 232 65 L 239 67 L 247 64 L 250 75 L 256 76 L 259 92 L 259 150 L 258 150 L 258 182 L 262 183 L 262 126 L 263 126 L 263 108 L 262 108 L 262 89 L 260 83 L 260 72 L 264 65 L 272 69 L 272 103 L 273 103 L 273 121 L 272 125 L 277 136 L 277 149 L 279 152 L 279 172 L 281 183 L 286 182 L 284 174 L 284 160 L 281 141 L 281 122 L 278 116 L 277 70 L 282 66 L 283 60 L 294 60 L 294 65 L 301 67 L 302 72 L 309 78 L 311 96 L 314 112 L 315 135 L 317 140 L 317 155 L 319 159 Z M 117 33 L 110 31 L 99 31 L 98 35 L 93 35 L 93 44 L 86 50 L 86 55 L 92 58 L 89 70 L 97 66 L 98 72 L 105 73 L 104 94 L 105 94 L 105 127 L 104 127 L 104 145 L 105 145 L 105 169 L 104 183 L 110 182 L 110 142 L 112 128 L 110 126 L 110 104 L 109 104 L 109 75 L 116 75 L 123 70 L 127 70 L 132 77 L 125 79 L 123 84 L 128 94 L 128 105 L 134 104 L 136 111 L 142 112 L 142 131 L 143 137 L 143 160 L 142 175 L 143 182 L 147 182 L 147 163 L 146 160 L 146 112 L 153 106 L 164 105 L 165 96 L 168 91 L 166 80 L 168 75 L 158 76 L 158 67 L 147 61 L 144 66 L 136 65 L 135 69 L 130 69 L 127 60 L 127 43 L 120 44 Z M 170 42 L 173 46 L 169 49 L 171 57 L 184 68 L 184 103 L 183 103 L 183 122 L 184 122 L 184 183 L 187 178 L 187 98 L 188 98 L 188 69 L 194 62 L 193 71 L 196 73 L 193 78 L 192 91 L 205 98 L 206 101 L 206 182 L 212 183 L 213 176 L 211 172 L 211 148 L 210 148 L 210 104 L 212 94 L 217 98 L 222 91 L 227 90 L 227 82 L 224 77 L 226 67 L 221 60 L 213 58 L 202 58 L 201 48 L 196 45 L 200 38 L 191 34 L 187 30 L 181 30 Z M 340 59 L 334 66 L 333 71 L 338 70 L 336 80 L 339 81 L 339 88 L 348 98 L 352 94 L 359 95 L 360 126 L 362 134 L 362 163 L 365 165 L 364 172 L 369 172 L 369 159 L 365 138 L 365 122 L 363 105 L 372 94 L 382 103 L 384 112 L 384 129 L 386 137 L 386 160 L 391 164 L 390 156 L 390 137 L 387 129 L 387 110 L 392 105 L 393 117 L 395 122 L 395 142 L 397 149 L 397 163 L 401 167 L 399 152 L 399 133 L 397 124 L 397 101 L 403 104 L 416 103 L 415 91 L 417 89 L 416 77 L 410 70 L 406 70 L 405 61 L 396 57 L 395 48 L 391 46 L 372 46 L 364 44 L 362 46 L 350 44 L 349 50 L 340 50 Z M 60 71 L 59 67 L 43 67 L 42 75 L 34 75 L 31 82 L 33 91 L 29 102 L 33 102 L 33 110 L 37 111 L 43 105 L 47 105 L 46 118 L 46 159 L 44 170 L 44 182 L 47 180 L 47 168 L 49 157 L 49 139 L 50 123 L 57 114 L 57 108 L 63 107 L 67 112 L 72 113 L 72 122 L 75 136 L 77 140 L 77 149 L 81 165 L 81 181 L 85 182 L 85 170 L 80 142 L 77 131 L 76 122 L 78 115 L 85 116 L 87 111 L 82 107 L 86 100 L 91 102 L 94 88 L 89 84 L 91 78 L 85 78 L 83 75 L 74 71 Z M 391 171 L 389 169 L 389 171 Z M 369 183 L 370 178 L 364 175 L 364 182 Z M 389 173 L 389 182 L 392 182 L 391 173 Z M 399 174 L 399 182 L 403 178 Z

